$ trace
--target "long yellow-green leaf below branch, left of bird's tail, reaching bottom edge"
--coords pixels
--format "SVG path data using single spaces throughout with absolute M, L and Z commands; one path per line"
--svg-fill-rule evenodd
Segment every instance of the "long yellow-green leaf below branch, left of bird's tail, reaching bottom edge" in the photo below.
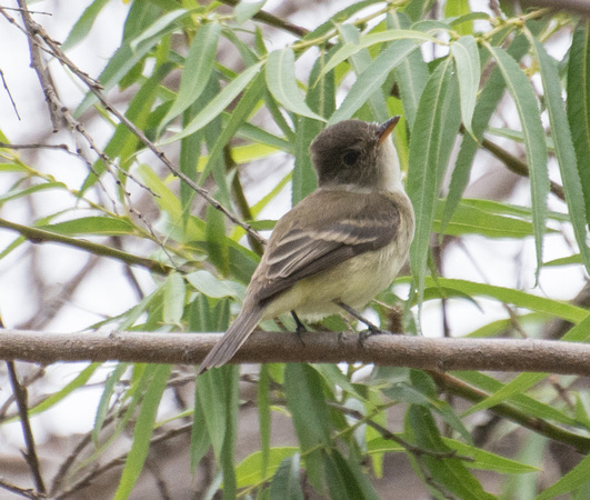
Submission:
M 150 449 L 156 413 L 168 383 L 171 368 L 170 364 L 157 364 L 149 368 L 152 371 L 152 379 L 141 402 L 141 409 L 133 429 L 133 443 L 127 456 L 123 472 L 113 497 L 114 500 L 124 500 L 129 497 L 143 469 L 143 463 Z

